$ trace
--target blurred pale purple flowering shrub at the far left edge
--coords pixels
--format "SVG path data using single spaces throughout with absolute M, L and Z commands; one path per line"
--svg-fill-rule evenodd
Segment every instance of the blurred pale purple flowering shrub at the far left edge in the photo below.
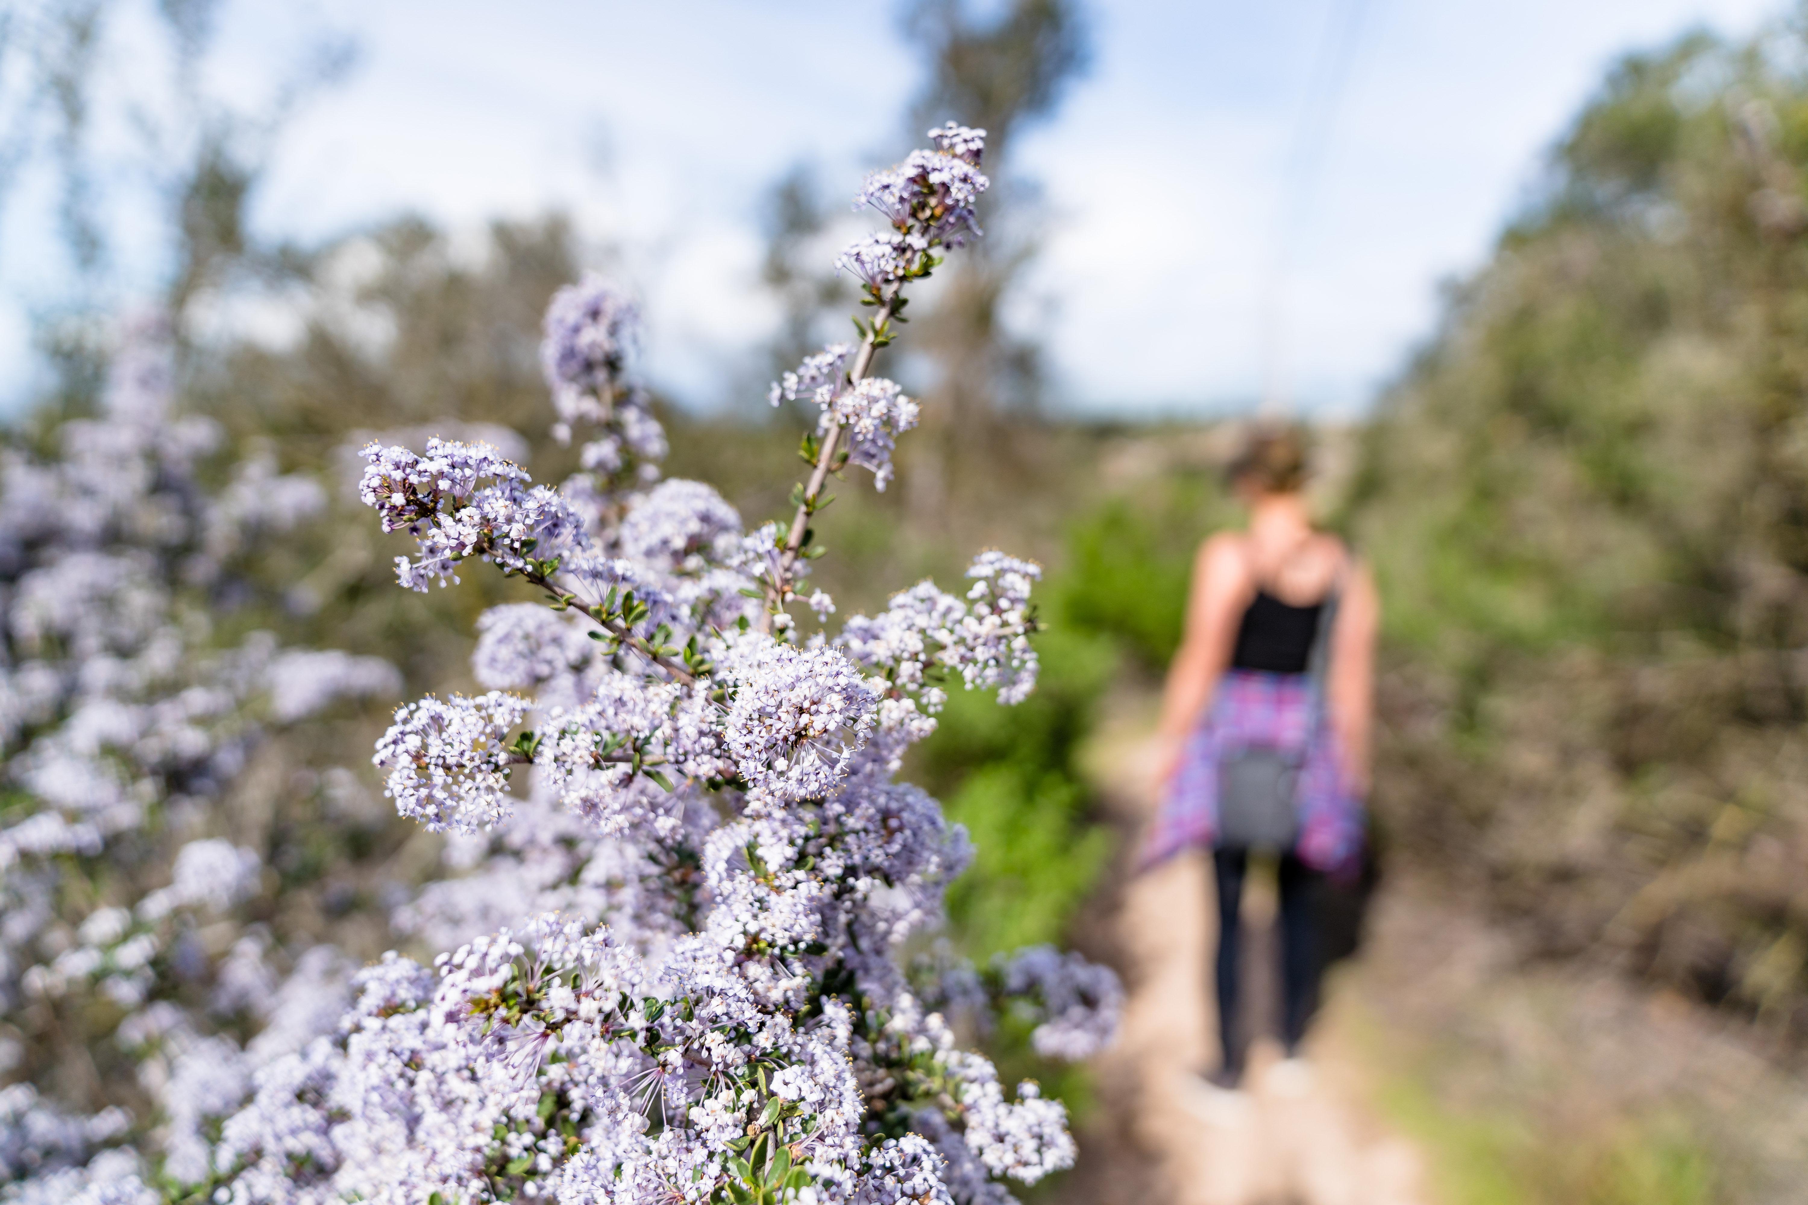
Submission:
M 266 869 L 217 835 L 217 804 L 268 730 L 401 679 L 268 632 L 213 638 L 244 555 L 324 504 L 268 459 L 208 490 L 219 443 L 172 414 L 170 340 L 143 318 L 99 417 L 61 423 L 51 457 L 0 453 L 0 1064 L 69 1098 L 148 1097 L 81 1115 L 0 1089 L 0 1183 L 24 1200 L 143 1196 L 127 1140 L 170 1180 L 206 1180 L 208 1131 L 251 1066 L 344 1008 L 331 950 L 278 974 L 242 909 Z

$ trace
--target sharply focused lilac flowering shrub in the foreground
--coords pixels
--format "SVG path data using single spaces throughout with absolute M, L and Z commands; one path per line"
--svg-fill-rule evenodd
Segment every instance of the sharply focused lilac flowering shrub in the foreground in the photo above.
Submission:
M 537 591 L 479 623 L 479 697 L 427 697 L 378 744 L 405 815 L 472 873 L 398 921 L 456 947 L 387 956 L 338 1032 L 257 1071 L 212 1200 L 1005 1201 L 1072 1162 L 1059 1102 L 1007 1091 L 928 1001 L 1041 1017 L 1040 1050 L 1108 1041 L 1110 972 L 1032 950 L 917 986 L 900 947 L 940 920 L 965 835 L 895 773 L 956 677 L 1022 699 L 1040 571 L 980 555 L 965 596 L 920 584 L 803 638 L 826 479 L 884 484 L 915 403 L 870 376 L 904 287 L 976 237 L 984 134 L 949 125 L 861 191 L 891 231 L 843 258 L 873 311 L 774 387 L 823 412 L 788 520 L 745 529 L 626 379 L 635 307 L 553 298 L 542 365 L 582 472 L 537 486 L 485 444 L 367 448 L 362 497 L 410 589 L 472 562 Z M 962 986 L 965 985 L 965 986 Z M 1020 997 L 1011 1003 L 1009 997 Z

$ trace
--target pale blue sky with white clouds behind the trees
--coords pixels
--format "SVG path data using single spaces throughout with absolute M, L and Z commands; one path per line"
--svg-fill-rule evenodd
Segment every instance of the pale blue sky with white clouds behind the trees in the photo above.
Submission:
M 1014 320 L 1058 401 L 1210 412 L 1260 396 L 1354 412 L 1421 340 L 1439 280 L 1479 264 L 1544 146 L 1611 60 L 1770 0 L 1094 0 L 1092 70 L 1020 145 L 1052 226 Z M 213 87 L 268 96 L 297 47 L 351 34 L 354 72 L 287 130 L 257 197 L 322 238 L 412 210 L 457 231 L 562 208 L 618 244 L 649 372 L 721 405 L 770 329 L 754 296 L 765 188 L 799 159 L 846 191 L 897 148 L 918 67 L 879 0 L 228 0 Z M 145 70 L 132 5 L 103 47 Z M 1327 79 L 1340 78 L 1329 89 Z M 119 275 L 154 226 L 114 181 Z M 42 197 L 36 197 L 42 202 Z M 54 300 L 29 182 L 0 226 L 0 374 Z

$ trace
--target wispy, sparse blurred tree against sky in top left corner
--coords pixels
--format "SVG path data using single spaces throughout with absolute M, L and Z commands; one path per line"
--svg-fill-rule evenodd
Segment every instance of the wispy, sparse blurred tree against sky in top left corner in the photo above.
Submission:
M 101 72 L 121 20 L 114 0 L 38 0 L 0 11 L 0 204 L 33 204 L 43 181 L 52 211 L 27 215 L 60 235 L 61 287 L 33 298 L 36 341 L 58 376 L 56 406 L 40 425 L 92 410 L 107 354 L 105 318 L 150 294 L 170 313 L 183 350 L 193 341 L 195 302 L 246 284 L 289 280 L 289 257 L 260 244 L 246 202 L 300 105 L 353 63 L 344 38 L 300 43 L 287 70 L 251 105 L 208 90 L 204 70 L 217 0 L 163 0 L 161 42 L 130 47 L 148 70 Z M 123 126 L 123 145 L 96 145 L 96 125 Z M 103 188 L 105 182 L 105 188 Z M 128 280 L 114 255 L 132 222 L 157 217 L 170 267 Z M 139 257 L 143 258 L 143 257 Z M 219 311 L 219 307 L 213 307 Z

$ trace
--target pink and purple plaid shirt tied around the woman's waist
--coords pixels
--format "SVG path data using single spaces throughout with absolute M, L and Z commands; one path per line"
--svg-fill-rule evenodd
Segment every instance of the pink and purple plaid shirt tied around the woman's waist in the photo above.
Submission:
M 1188 845 L 1210 847 L 1219 835 L 1219 761 L 1233 750 L 1273 748 L 1302 757 L 1295 853 L 1320 871 L 1347 869 L 1361 849 L 1361 800 L 1331 724 L 1318 723 L 1320 706 L 1305 674 L 1224 674 L 1211 712 L 1186 741 L 1139 865 L 1166 862 Z

